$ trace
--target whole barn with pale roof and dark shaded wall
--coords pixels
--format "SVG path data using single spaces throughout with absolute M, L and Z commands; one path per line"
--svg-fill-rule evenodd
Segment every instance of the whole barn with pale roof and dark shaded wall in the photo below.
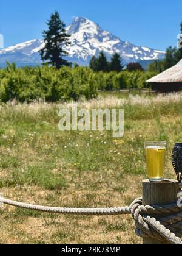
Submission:
M 172 68 L 154 76 L 146 81 L 151 84 L 152 90 L 160 93 L 169 93 L 182 90 L 182 60 Z

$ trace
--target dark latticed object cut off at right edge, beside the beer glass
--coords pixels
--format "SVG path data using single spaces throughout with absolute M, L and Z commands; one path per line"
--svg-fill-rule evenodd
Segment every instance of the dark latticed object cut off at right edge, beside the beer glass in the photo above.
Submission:
M 177 174 L 177 179 L 181 183 L 182 180 L 182 143 L 175 143 L 172 151 L 172 165 Z

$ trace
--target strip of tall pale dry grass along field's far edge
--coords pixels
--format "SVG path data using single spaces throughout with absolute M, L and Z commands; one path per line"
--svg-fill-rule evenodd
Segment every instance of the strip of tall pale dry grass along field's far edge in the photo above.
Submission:
M 55 108 L 67 108 L 77 106 L 79 108 L 112 108 L 112 107 L 123 107 L 124 105 L 161 105 L 161 104 L 172 104 L 172 103 L 181 103 L 182 102 L 182 94 L 181 93 L 170 93 L 170 94 L 158 94 L 155 97 L 141 97 L 141 96 L 132 96 L 126 98 L 118 98 L 116 96 L 110 96 L 108 93 L 107 98 L 103 96 L 99 96 L 98 99 L 92 99 L 90 101 L 70 101 L 69 103 L 46 103 L 43 101 L 35 101 L 31 104 L 21 104 L 16 101 L 9 102 L 6 105 L 0 105 L 0 111 L 4 110 L 4 108 L 15 108 L 15 111 L 21 111 L 22 113 L 27 112 L 28 115 L 36 115 L 40 113 L 40 111 L 44 110 L 44 112 L 50 113 Z

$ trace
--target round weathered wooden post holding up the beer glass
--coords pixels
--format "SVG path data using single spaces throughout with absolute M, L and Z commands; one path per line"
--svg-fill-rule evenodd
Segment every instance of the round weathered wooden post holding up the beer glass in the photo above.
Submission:
M 164 205 L 177 202 L 179 183 L 166 179 L 163 182 L 143 180 L 143 205 Z M 153 238 L 143 238 L 143 244 L 168 244 Z

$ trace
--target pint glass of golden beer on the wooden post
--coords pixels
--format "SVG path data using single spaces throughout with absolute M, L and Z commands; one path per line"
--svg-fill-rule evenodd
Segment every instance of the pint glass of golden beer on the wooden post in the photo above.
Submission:
M 164 180 L 166 158 L 166 142 L 146 142 L 146 162 L 149 180 L 160 182 Z

